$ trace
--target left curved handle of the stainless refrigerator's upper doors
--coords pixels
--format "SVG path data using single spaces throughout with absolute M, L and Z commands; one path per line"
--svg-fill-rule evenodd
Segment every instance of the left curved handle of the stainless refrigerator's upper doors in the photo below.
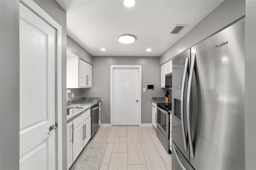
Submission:
M 186 140 L 186 132 L 184 127 L 184 92 L 185 92 L 185 83 L 186 83 L 186 77 L 188 72 L 188 57 L 186 58 L 184 72 L 183 72 L 183 79 L 182 79 L 182 87 L 181 87 L 181 99 L 180 99 L 180 113 L 181 113 L 181 127 L 182 127 L 182 135 L 183 135 L 183 141 L 184 141 L 184 147 L 185 150 L 188 151 L 188 145 Z

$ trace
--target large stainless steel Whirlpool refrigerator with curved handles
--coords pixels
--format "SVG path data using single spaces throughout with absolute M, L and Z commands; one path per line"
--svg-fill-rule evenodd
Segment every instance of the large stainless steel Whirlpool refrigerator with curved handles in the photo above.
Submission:
M 172 170 L 245 169 L 244 24 L 172 61 Z

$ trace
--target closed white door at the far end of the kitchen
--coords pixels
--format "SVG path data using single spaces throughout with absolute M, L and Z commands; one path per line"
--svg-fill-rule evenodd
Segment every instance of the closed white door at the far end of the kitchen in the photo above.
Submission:
M 139 124 L 138 68 L 113 69 L 113 125 Z

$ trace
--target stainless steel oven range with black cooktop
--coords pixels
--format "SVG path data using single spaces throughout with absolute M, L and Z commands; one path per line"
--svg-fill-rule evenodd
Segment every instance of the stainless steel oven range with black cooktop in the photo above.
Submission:
M 170 113 L 172 103 L 157 103 L 156 135 L 167 152 L 170 151 Z

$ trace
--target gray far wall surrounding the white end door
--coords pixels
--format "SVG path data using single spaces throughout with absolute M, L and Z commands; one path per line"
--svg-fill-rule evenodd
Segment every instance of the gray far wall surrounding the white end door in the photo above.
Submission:
M 164 97 L 160 88 L 159 57 L 93 57 L 92 88 L 83 89 L 84 97 L 101 97 L 101 123 L 110 123 L 110 65 L 142 65 L 142 88 L 154 84 L 154 91 L 142 92 L 142 123 L 152 122 L 151 97 Z

